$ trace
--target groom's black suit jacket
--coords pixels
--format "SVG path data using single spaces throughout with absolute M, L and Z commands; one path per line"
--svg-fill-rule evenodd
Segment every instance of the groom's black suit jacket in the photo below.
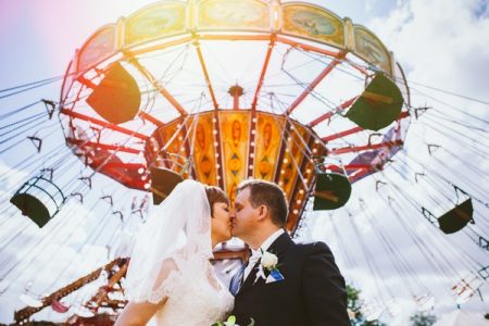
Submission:
M 240 286 L 244 266 L 233 277 L 233 313 L 239 325 L 350 326 L 344 279 L 324 242 L 294 243 L 287 233 L 267 250 L 278 258 L 284 280 L 265 284 L 254 273 Z

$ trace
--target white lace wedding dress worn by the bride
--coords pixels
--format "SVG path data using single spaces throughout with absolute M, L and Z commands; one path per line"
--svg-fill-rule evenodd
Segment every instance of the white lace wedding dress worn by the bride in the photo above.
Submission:
M 210 326 L 225 321 L 235 298 L 215 276 L 209 260 L 175 258 L 162 291 L 168 299 L 148 325 Z

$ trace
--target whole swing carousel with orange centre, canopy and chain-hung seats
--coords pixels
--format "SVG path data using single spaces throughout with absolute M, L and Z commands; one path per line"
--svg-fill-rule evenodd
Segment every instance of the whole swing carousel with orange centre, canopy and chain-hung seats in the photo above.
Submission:
M 16 323 L 111 324 L 126 303 L 131 236 L 158 204 L 151 191 L 164 197 L 185 178 L 231 200 L 250 177 L 280 185 L 292 237 L 326 225 L 347 280 L 368 288 L 355 274 L 366 266 L 371 321 L 399 313 L 389 275 L 421 311 L 435 306 L 437 287 L 457 304 L 484 299 L 489 199 L 477 162 L 489 155 L 488 121 L 432 97 L 415 104 L 423 91 L 366 27 L 305 2 L 160 1 L 96 30 L 64 76 L 4 89 L 0 100 L 60 82 L 59 99 L 1 115 L 11 189 L 0 299 L 18 298 Z M 471 160 L 446 145 L 454 139 Z M 438 284 L 422 279 L 410 243 Z M 71 255 L 57 260 L 66 247 Z M 215 249 L 223 279 L 247 254 L 237 239 Z M 50 276 L 33 273 L 53 262 Z

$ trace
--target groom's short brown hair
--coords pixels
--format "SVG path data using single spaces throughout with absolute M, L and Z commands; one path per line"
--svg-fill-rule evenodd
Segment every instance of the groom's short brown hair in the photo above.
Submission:
M 262 179 L 248 179 L 239 184 L 237 192 L 250 189 L 249 201 L 253 208 L 265 205 L 271 211 L 272 222 L 284 227 L 289 213 L 284 190 L 276 184 Z

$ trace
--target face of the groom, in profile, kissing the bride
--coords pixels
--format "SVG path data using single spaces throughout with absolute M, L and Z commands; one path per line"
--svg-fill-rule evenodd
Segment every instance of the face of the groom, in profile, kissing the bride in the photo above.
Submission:
M 231 215 L 233 235 L 241 238 L 253 231 L 256 226 L 259 210 L 253 209 L 250 203 L 250 189 L 244 188 L 238 192 L 235 200 L 235 210 Z

